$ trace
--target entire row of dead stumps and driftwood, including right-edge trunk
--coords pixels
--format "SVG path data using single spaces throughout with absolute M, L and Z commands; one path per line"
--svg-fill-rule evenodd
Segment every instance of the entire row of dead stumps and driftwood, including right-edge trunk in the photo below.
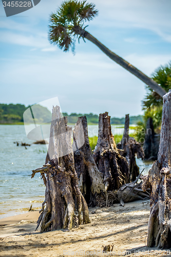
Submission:
M 163 100 L 158 159 L 148 175 L 141 177 L 143 184 L 137 183 L 139 170 L 133 168 L 136 167 L 135 154 L 144 158 L 144 153 L 141 145 L 128 135 L 128 115 L 118 145 L 120 149 L 117 149 L 110 117 L 108 113 L 100 114 L 98 142 L 92 155 L 86 117 L 80 117 L 75 124 L 72 142 L 72 128 L 67 126 L 67 118 L 61 117 L 60 107 L 53 107 L 46 162 L 32 173 L 34 177 L 40 172 L 46 186 L 45 201 L 37 221 L 41 232 L 70 230 L 90 223 L 88 204 L 96 206 L 97 196 L 105 197 L 106 191 L 119 189 L 118 196 L 125 202 L 150 195 L 147 246 L 171 247 L 171 92 Z

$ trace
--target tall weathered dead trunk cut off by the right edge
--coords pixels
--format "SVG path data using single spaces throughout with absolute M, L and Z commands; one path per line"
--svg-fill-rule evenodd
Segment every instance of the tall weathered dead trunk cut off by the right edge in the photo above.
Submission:
M 144 179 L 142 189 L 151 189 L 147 246 L 171 247 L 171 90 L 163 96 L 158 159 Z

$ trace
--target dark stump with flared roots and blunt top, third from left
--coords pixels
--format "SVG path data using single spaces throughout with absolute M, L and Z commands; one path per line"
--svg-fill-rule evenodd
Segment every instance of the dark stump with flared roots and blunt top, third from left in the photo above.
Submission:
M 118 189 L 128 182 L 128 163 L 117 150 L 111 133 L 110 116 L 107 112 L 99 115 L 98 142 L 93 151 L 93 157 L 99 171 L 103 173 L 106 190 Z

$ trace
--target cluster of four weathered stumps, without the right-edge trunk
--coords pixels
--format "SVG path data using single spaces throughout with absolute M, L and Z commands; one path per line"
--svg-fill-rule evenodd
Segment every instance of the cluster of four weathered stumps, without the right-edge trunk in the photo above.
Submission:
M 61 116 L 60 107 L 53 107 L 45 165 L 32 173 L 34 177 L 40 172 L 46 186 L 45 201 L 37 221 L 41 232 L 70 230 L 82 222 L 89 223 L 88 206 L 97 206 L 99 197 L 106 201 L 108 192 L 118 190 L 139 175 L 139 169 L 137 172 L 132 167 L 136 167 L 135 154 L 141 152 L 139 155 L 143 158 L 143 150 L 140 147 L 137 150 L 135 140 L 124 141 L 125 136 L 130 139 L 127 121 L 127 134 L 121 141 L 123 149 L 117 149 L 110 116 L 100 114 L 98 142 L 92 154 L 86 116 L 78 118 L 72 133 L 72 128 L 67 126 L 67 117 Z

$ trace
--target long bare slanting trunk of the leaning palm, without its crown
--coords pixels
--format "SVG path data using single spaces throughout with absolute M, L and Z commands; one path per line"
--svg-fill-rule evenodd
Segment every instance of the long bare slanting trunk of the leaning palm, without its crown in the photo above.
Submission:
M 104 46 L 99 40 L 94 38 L 90 33 L 87 31 L 79 28 L 79 34 L 83 36 L 83 38 L 88 39 L 93 44 L 98 46 L 111 60 L 121 65 L 123 68 L 128 70 L 131 74 L 135 75 L 138 79 L 143 81 L 146 85 L 148 85 L 151 89 L 156 91 L 157 94 L 159 94 L 161 97 L 166 94 L 166 91 L 158 85 L 157 82 L 150 79 L 148 76 L 146 76 L 142 71 L 125 61 L 123 58 L 118 56 L 115 52 L 110 51 L 106 46 Z

